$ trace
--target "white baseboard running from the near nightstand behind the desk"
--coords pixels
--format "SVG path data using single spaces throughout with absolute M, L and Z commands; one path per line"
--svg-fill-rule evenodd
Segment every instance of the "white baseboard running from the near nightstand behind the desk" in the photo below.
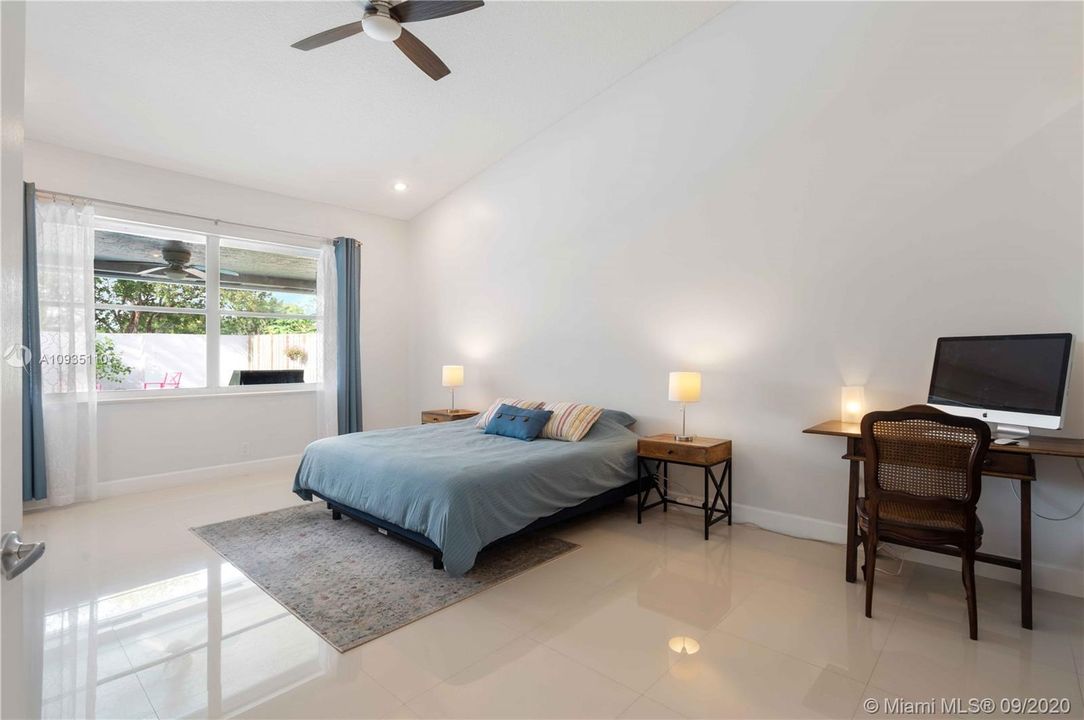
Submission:
M 804 515 L 780 513 L 776 510 L 765 510 L 763 507 L 735 503 L 734 519 L 738 523 L 752 523 L 765 530 L 782 532 L 783 535 L 790 535 L 797 538 L 808 538 L 810 540 L 821 540 L 837 544 L 843 544 L 847 541 L 847 526 L 842 523 L 829 523 L 828 520 L 806 517 Z M 915 563 L 953 570 L 959 569 L 959 560 L 955 557 L 939 555 L 924 550 L 914 550 L 912 548 L 900 548 L 899 552 L 906 554 L 906 558 Z M 1020 573 L 1018 570 L 997 565 L 988 565 L 986 563 L 976 564 L 975 573 L 976 575 L 996 580 L 1020 581 Z M 1084 597 L 1084 574 L 1071 567 L 1045 565 L 1033 561 L 1032 583 L 1035 588 L 1042 590 Z

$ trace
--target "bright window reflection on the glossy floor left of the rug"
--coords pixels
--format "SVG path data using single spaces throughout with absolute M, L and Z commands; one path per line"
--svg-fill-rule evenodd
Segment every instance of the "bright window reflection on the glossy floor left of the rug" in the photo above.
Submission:
M 233 715 L 326 670 L 291 619 L 228 563 L 48 614 L 42 717 Z

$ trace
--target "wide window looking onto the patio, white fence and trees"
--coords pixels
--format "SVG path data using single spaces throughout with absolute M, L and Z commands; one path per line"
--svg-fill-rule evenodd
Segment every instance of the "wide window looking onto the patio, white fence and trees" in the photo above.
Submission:
M 307 247 L 99 218 L 99 389 L 317 382 L 318 257 Z

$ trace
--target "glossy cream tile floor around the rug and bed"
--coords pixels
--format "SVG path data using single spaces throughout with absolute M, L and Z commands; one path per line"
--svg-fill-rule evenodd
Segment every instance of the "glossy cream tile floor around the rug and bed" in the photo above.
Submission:
M 980 579 L 973 643 L 956 573 L 879 575 L 870 620 L 841 547 L 751 526 L 705 542 L 695 516 L 637 526 L 631 502 L 555 531 L 581 549 L 340 655 L 188 531 L 298 502 L 288 488 L 28 515 L 49 543 L 27 575 L 44 717 L 851 718 L 940 696 L 1064 697 L 1081 717 L 1080 600 L 1036 593 L 1025 631 L 1016 588 Z

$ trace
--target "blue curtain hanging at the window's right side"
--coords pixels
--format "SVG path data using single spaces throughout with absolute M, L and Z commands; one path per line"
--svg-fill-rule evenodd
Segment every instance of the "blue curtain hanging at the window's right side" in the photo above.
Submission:
M 335 240 L 338 430 L 361 432 L 361 243 Z

